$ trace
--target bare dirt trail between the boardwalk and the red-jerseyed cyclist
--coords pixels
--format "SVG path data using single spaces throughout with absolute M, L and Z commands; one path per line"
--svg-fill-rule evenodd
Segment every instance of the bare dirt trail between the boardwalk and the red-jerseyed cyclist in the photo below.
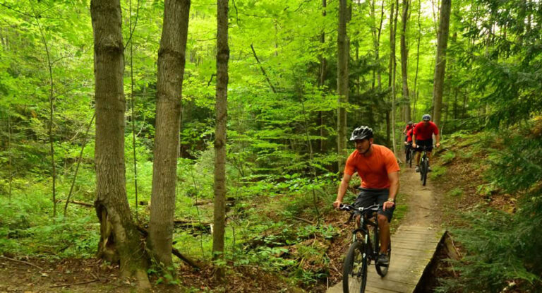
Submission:
M 434 226 L 440 218 L 440 208 L 435 198 L 434 186 L 427 179 L 426 186 L 421 185 L 420 174 L 414 172 L 414 167 L 401 166 L 404 172 L 400 175 L 399 194 L 406 194 L 409 212 L 402 220 L 402 226 Z

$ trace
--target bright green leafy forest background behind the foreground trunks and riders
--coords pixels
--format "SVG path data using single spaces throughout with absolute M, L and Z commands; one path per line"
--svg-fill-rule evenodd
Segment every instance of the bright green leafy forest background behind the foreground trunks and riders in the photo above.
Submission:
M 441 105 L 433 94 L 441 4 L 415 0 L 347 2 L 348 98 L 337 102 L 345 95 L 337 86 L 339 2 L 229 2 L 227 227 L 224 254 L 213 265 L 259 265 L 291 284 L 321 284 L 328 256 L 320 266 L 298 265 L 321 254 L 318 246 L 300 245 L 297 258 L 282 257 L 281 249 L 337 233 L 322 221 L 345 158 L 337 150 L 337 113 L 346 109 L 346 133 L 369 125 L 375 143 L 401 160 L 404 124 L 430 113 L 440 116 L 448 145 L 478 147 L 469 159 L 484 179 L 474 208 L 454 218 L 466 256 L 453 264 L 459 277 L 443 280 L 441 289 L 537 288 L 541 2 L 452 1 Z M 96 191 L 90 3 L 6 0 L 0 15 L 0 252 L 90 258 L 100 239 L 96 212 L 83 205 L 93 205 Z M 126 195 L 141 227 L 150 217 L 163 16 L 163 1 L 121 1 Z M 207 203 L 214 196 L 216 23 L 215 1 L 193 1 L 173 241 L 202 263 L 214 258 Z M 512 198 L 512 210 L 484 205 L 493 193 Z M 289 221 L 300 215 L 312 224 Z M 177 282 L 156 270 L 148 272 L 161 275 L 159 282 Z

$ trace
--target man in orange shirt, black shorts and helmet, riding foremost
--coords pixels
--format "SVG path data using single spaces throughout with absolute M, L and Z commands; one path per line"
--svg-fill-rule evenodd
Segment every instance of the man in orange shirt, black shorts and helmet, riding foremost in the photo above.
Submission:
M 344 166 L 344 175 L 333 206 L 339 208 L 352 174 L 358 172 L 362 181 L 361 192 L 354 206 L 366 207 L 374 203 L 381 205 L 378 210 L 381 244 L 378 263 L 387 265 L 390 263 L 387 256 L 387 248 L 390 244 L 390 221 L 395 210 L 395 197 L 399 191 L 399 164 L 389 148 L 373 144 L 373 129 L 367 126 L 354 129 L 350 140 L 355 141 L 356 150 L 351 153 Z

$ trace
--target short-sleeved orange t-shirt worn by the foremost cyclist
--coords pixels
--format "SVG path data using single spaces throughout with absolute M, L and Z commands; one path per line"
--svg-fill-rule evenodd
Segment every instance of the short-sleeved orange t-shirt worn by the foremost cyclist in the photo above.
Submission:
M 344 174 L 351 176 L 357 171 L 362 180 L 361 187 L 366 189 L 390 188 L 390 179 L 387 174 L 399 171 L 395 155 L 383 145 L 373 144 L 372 148 L 373 153 L 368 157 L 354 150 L 344 166 Z

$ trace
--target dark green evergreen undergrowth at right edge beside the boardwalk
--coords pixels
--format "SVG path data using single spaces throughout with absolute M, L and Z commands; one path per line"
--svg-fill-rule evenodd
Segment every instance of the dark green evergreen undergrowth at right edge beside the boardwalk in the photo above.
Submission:
M 490 156 L 490 182 L 479 192 L 513 194 L 517 212 L 481 208 L 464 214 L 466 227 L 454 234 L 467 255 L 452 262 L 459 277 L 442 280 L 438 292 L 501 292 L 510 284 L 518 292 L 539 292 L 542 286 L 542 137 L 526 130 L 496 140 L 507 142 L 506 148 Z

